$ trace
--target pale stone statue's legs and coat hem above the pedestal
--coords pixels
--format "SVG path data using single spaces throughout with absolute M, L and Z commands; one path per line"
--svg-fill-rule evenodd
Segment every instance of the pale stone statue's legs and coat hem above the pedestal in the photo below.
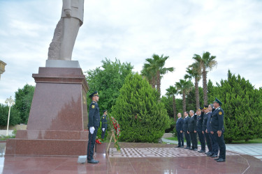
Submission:
M 83 23 L 84 0 L 63 0 L 61 19 L 48 50 L 48 60 L 71 61 L 75 39 Z

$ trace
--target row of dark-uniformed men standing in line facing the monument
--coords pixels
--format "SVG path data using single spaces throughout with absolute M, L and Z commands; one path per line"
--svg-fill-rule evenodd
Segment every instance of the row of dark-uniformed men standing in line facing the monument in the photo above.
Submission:
M 217 162 L 226 161 L 226 145 L 224 142 L 224 111 L 222 103 L 216 98 L 213 104 L 199 108 L 196 113 L 193 110 L 184 112 L 184 120 L 181 113 L 177 114 L 176 130 L 178 145 L 176 148 L 184 148 L 184 137 L 187 146 L 184 149 L 198 150 L 198 139 L 201 143 L 201 150 L 205 152 L 205 143 L 208 145 L 208 157 L 214 158 Z M 189 117 L 188 114 L 191 116 Z M 191 145 L 192 144 L 192 145 Z M 218 156 L 219 152 L 219 156 Z

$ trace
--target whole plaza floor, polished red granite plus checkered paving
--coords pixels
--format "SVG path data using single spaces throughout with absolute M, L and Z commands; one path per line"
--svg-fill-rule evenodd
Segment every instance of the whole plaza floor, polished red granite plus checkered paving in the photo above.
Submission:
M 111 143 L 113 145 L 113 143 Z M 249 155 L 233 154 L 226 156 L 226 162 L 218 163 L 211 157 L 198 152 L 189 152 L 174 145 L 159 143 L 122 143 L 119 142 L 126 155 L 136 157 L 112 157 L 110 154 L 95 154 L 94 159 L 99 164 L 78 164 L 78 157 L 29 157 L 29 156 L 3 156 L 0 173 L 49 173 L 49 174 L 175 174 L 175 173 L 261 173 L 262 161 Z M 3 144 L 5 145 L 5 144 Z M 172 147 L 172 148 L 171 148 Z M 3 148 L 3 147 L 2 147 Z M 130 151 L 131 150 L 131 151 Z M 145 151 L 143 151 L 145 150 Z M 129 151 L 129 152 L 127 152 Z M 161 151 L 161 153 L 158 153 Z M 113 153 L 114 153 L 113 152 Z M 144 153 L 145 152 L 145 153 Z M 170 157 L 163 157 L 162 152 Z M 187 153 L 186 155 L 182 155 Z M 153 157 L 150 155 L 154 154 Z M 157 157 L 155 155 L 157 154 Z

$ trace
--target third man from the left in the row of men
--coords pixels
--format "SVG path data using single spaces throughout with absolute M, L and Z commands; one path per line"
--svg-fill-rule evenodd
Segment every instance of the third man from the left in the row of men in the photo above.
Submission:
M 189 115 L 191 116 L 189 120 L 189 130 L 187 133 L 190 134 L 190 139 L 192 142 L 192 147 L 190 150 L 198 150 L 198 141 L 196 139 L 196 114 L 194 115 L 194 111 L 190 110 Z

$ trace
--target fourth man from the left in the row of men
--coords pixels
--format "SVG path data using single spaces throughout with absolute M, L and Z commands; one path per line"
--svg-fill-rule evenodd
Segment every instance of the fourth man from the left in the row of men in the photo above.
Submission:
M 198 152 L 205 152 L 205 136 L 202 134 L 202 126 L 203 126 L 203 119 L 204 119 L 204 112 L 202 111 L 203 108 L 199 108 L 197 111 L 197 118 L 196 118 L 196 132 L 198 132 L 198 139 L 201 143 L 201 150 Z

